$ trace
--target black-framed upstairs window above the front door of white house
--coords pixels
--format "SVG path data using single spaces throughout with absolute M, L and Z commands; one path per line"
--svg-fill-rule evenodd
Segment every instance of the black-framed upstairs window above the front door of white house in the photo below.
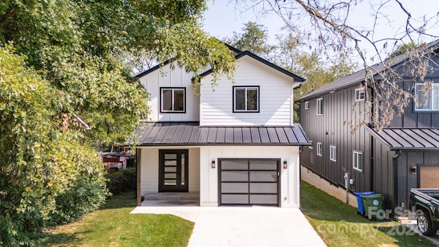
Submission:
M 160 91 L 162 113 L 185 113 L 185 88 L 161 88 Z

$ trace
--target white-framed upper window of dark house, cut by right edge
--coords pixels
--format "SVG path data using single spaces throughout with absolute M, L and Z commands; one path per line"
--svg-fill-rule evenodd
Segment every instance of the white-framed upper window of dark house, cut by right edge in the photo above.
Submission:
M 439 110 L 439 84 L 431 84 L 431 90 L 423 83 L 415 84 L 416 110 Z

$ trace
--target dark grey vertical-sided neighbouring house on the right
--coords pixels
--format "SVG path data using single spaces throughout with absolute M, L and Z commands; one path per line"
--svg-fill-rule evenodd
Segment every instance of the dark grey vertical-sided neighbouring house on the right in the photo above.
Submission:
M 348 124 L 364 112 L 366 97 L 374 96 L 370 86 L 365 86 L 364 69 L 296 101 L 300 104 L 300 124 L 312 143 L 300 154 L 303 180 L 341 200 L 349 196 L 348 200 L 355 206 L 354 191 L 382 193 L 386 209 L 407 208 L 410 188 L 439 187 L 438 42 L 428 47 L 431 61 L 423 81 L 411 77 L 412 64 L 416 62 L 410 62 L 408 54 L 388 60 L 392 69 L 401 75 L 399 86 L 418 95 L 418 104 L 411 100 L 403 114 L 395 113 L 390 126 L 379 132 L 371 126 L 361 126 L 351 134 Z M 378 72 L 385 69 L 377 64 L 370 71 L 379 81 Z M 423 95 L 423 82 L 431 80 L 433 90 Z M 421 103 L 424 99 L 427 104 Z M 372 111 L 381 114 L 379 104 L 375 102 Z M 348 188 L 345 173 L 352 179 L 348 180 L 351 182 Z M 348 195 L 346 189 L 349 189 Z

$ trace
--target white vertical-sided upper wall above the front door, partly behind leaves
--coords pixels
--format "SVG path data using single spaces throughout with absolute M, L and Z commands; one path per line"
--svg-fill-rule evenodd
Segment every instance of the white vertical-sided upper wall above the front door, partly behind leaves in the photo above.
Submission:
M 192 88 L 194 73 L 187 73 L 178 66 L 171 69 L 171 64 L 166 64 L 147 75 L 139 78 L 141 84 L 150 94 L 147 104 L 150 106 L 149 121 L 199 121 L 200 99 L 195 96 Z M 186 113 L 161 113 L 161 87 L 185 87 L 186 88 Z

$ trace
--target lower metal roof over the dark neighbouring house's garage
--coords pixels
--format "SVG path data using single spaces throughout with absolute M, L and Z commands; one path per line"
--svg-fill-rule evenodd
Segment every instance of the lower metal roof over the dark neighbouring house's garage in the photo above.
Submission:
M 372 132 L 388 143 L 390 150 L 439 150 L 438 128 L 384 128 Z

